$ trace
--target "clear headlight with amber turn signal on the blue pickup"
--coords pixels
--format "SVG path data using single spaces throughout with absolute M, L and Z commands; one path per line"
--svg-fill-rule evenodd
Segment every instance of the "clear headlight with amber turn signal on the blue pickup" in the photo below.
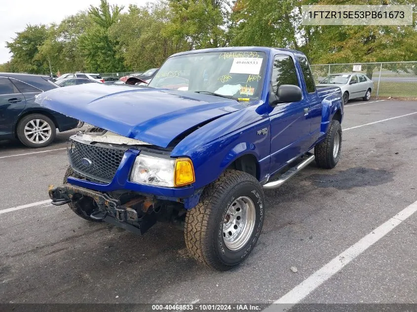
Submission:
M 136 157 L 130 180 L 135 183 L 166 187 L 187 185 L 195 181 L 188 158 L 166 159 L 148 155 Z

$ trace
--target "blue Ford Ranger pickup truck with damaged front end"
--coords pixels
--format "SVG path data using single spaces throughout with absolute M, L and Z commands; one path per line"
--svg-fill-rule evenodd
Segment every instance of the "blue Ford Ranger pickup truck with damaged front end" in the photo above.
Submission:
M 182 226 L 190 254 L 222 271 L 257 243 L 264 189 L 314 160 L 333 168 L 341 152 L 340 89 L 316 89 L 306 57 L 287 49 L 178 53 L 148 86 L 72 86 L 37 102 L 93 125 L 71 137 L 52 204 L 138 234 Z

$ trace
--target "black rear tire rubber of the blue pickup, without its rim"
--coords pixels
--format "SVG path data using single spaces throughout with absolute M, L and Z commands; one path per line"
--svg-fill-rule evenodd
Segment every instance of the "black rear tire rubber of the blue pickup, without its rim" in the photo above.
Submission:
M 337 156 L 334 157 L 333 147 L 335 137 L 338 135 L 340 136 L 339 150 Z M 314 147 L 314 156 L 318 167 L 332 169 L 337 165 L 341 153 L 341 138 L 341 125 L 339 121 L 332 120 L 326 138 Z

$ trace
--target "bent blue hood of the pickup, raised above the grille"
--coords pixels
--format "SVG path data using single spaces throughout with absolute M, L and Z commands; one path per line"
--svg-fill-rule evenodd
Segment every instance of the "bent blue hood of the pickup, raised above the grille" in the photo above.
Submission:
M 167 147 L 182 133 L 245 106 L 217 96 L 89 83 L 53 89 L 36 103 L 121 136 Z

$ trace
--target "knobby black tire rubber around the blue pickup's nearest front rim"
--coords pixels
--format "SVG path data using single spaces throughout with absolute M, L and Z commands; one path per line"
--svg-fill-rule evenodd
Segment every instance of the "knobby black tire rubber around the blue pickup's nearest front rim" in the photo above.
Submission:
M 223 222 L 229 206 L 247 196 L 255 204 L 255 225 L 248 242 L 238 250 L 226 247 Z M 196 260 L 206 266 L 227 271 L 240 264 L 255 247 L 265 218 L 265 195 L 259 181 L 252 175 L 227 170 L 204 188 L 198 205 L 187 212 L 184 236 L 187 248 Z

